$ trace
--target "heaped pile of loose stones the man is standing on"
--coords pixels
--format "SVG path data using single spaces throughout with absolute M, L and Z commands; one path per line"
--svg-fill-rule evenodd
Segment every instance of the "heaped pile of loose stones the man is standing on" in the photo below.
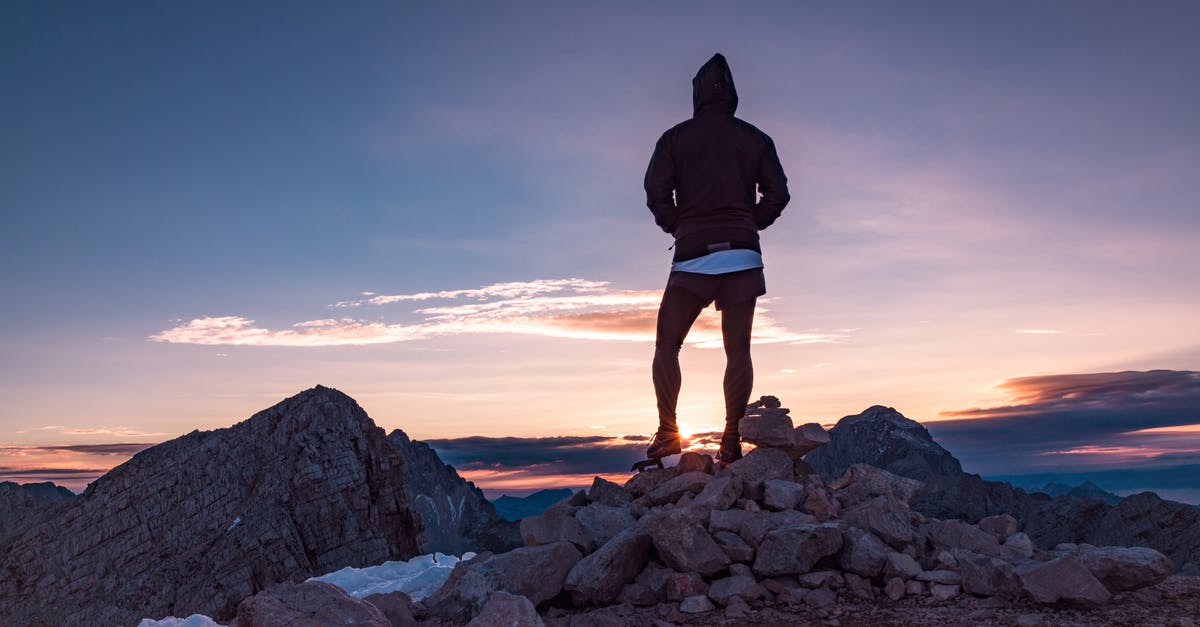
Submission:
M 872 466 L 851 466 L 827 485 L 803 455 L 828 434 L 793 426 L 773 396 L 748 407 L 740 434 L 756 448 L 725 468 L 684 453 L 624 485 L 596 477 L 522 520 L 526 547 L 460 562 L 414 605 L 416 619 L 542 625 L 538 609 L 563 616 L 606 605 L 736 619 L 767 604 L 822 616 L 840 596 L 1098 605 L 1171 572 L 1147 548 L 1036 549 L 1009 515 L 926 518 L 908 507 L 923 483 Z

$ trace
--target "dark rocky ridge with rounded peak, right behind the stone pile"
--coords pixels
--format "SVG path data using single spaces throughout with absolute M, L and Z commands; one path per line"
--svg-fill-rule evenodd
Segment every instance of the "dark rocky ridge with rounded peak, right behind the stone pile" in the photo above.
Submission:
M 1061 543 L 1123 544 L 1156 549 L 1182 574 L 1200 574 L 1200 506 L 1142 492 L 1117 503 L 1028 494 L 962 466 L 919 423 L 890 407 L 847 416 L 829 430 L 829 444 L 805 456 L 827 480 L 853 464 L 869 464 L 925 483 L 912 508 L 926 516 L 978 521 L 1009 514 L 1042 549 Z

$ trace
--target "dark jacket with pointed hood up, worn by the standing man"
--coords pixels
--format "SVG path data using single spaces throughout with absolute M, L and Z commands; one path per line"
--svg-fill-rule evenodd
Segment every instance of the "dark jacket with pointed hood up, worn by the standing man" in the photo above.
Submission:
M 738 92 L 720 54 L 691 80 L 692 118 L 662 133 L 646 168 L 646 205 L 676 237 L 674 261 L 707 255 L 709 245 L 758 250 L 758 231 L 791 198 L 775 143 L 733 117 Z M 756 201 L 757 191 L 762 199 Z

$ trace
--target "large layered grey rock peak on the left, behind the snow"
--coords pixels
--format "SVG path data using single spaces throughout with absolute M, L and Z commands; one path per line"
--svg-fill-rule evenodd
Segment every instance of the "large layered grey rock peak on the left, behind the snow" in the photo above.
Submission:
M 427 553 L 449 541 L 421 515 L 413 486 L 425 466 L 320 386 L 193 431 L 11 537 L 0 548 L 0 623 L 228 620 L 272 584 Z

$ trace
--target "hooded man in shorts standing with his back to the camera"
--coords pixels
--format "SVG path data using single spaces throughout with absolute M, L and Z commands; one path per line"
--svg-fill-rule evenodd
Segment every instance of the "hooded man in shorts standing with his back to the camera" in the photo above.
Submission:
M 658 459 L 682 450 L 679 348 L 701 310 L 715 300 L 726 358 L 718 460 L 730 464 L 742 456 L 738 422 L 754 384 L 750 328 L 755 301 L 767 292 L 758 231 L 779 217 L 790 197 L 774 142 L 733 117 L 738 94 L 725 56 L 713 55 L 691 89 L 691 119 L 662 133 L 646 169 L 646 204 L 674 237 L 654 344 L 659 430 L 646 453 Z

